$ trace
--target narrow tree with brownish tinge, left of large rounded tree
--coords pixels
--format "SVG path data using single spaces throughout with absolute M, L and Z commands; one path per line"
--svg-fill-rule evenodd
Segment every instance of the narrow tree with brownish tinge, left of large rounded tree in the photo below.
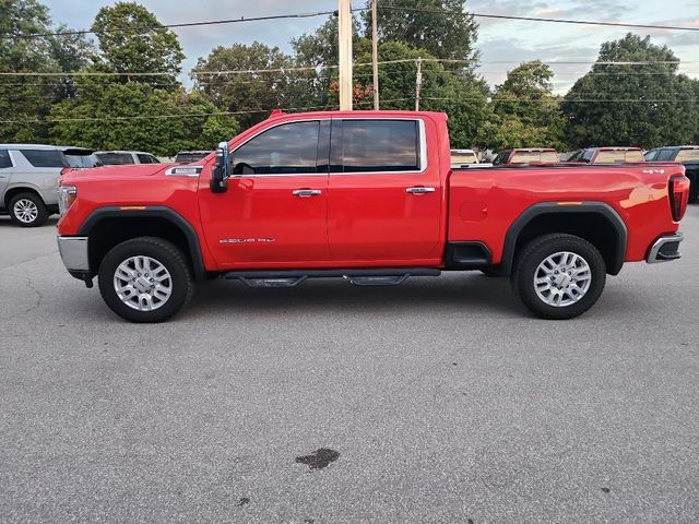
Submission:
M 489 144 L 496 148 L 553 146 L 566 148 L 560 99 L 553 95 L 554 72 L 538 60 L 508 72 L 495 88 Z

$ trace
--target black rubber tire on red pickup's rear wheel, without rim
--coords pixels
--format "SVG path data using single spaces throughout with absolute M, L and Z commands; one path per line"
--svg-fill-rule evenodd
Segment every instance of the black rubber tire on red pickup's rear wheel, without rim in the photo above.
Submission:
M 553 306 L 540 298 L 534 287 L 534 278 L 542 262 L 562 251 L 582 257 L 590 267 L 591 279 L 587 291 L 578 301 L 568 306 Z M 580 237 L 565 234 L 544 235 L 521 249 L 510 279 L 514 294 L 537 317 L 552 320 L 572 319 L 594 306 L 602 295 L 606 283 L 606 265 L 600 251 Z

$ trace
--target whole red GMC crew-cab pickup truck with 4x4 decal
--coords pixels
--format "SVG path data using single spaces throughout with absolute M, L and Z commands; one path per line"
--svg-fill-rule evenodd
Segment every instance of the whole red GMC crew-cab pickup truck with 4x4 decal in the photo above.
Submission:
M 389 285 L 467 270 L 568 319 L 625 262 L 680 257 L 688 191 L 676 163 L 451 169 L 438 112 L 275 112 L 197 164 L 66 174 L 58 243 L 135 322 L 173 317 L 212 276 Z

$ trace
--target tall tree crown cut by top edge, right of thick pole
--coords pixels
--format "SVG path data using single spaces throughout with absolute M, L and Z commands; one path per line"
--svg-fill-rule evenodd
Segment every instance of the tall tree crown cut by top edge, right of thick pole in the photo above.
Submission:
M 464 0 L 381 0 L 378 4 L 379 38 L 403 41 L 440 59 L 469 60 L 472 63 L 457 68 L 466 66 L 472 70 L 478 59 L 475 49 L 478 24 L 472 15 L 464 13 Z M 369 8 L 370 2 L 366 7 Z M 370 38 L 370 9 L 364 11 L 363 20 L 366 36 Z

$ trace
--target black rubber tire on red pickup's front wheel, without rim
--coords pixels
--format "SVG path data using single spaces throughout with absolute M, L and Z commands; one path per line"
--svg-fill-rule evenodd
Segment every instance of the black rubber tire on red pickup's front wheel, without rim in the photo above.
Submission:
M 154 259 L 170 275 L 166 282 L 171 285 L 169 298 L 151 311 L 141 311 L 128 306 L 119 298 L 115 288 L 114 278 L 117 267 L 137 255 Z M 187 258 L 175 245 L 157 237 L 138 237 L 114 247 L 99 264 L 98 283 L 102 298 L 109 309 L 131 322 L 166 321 L 182 309 L 194 293 L 194 283 Z

